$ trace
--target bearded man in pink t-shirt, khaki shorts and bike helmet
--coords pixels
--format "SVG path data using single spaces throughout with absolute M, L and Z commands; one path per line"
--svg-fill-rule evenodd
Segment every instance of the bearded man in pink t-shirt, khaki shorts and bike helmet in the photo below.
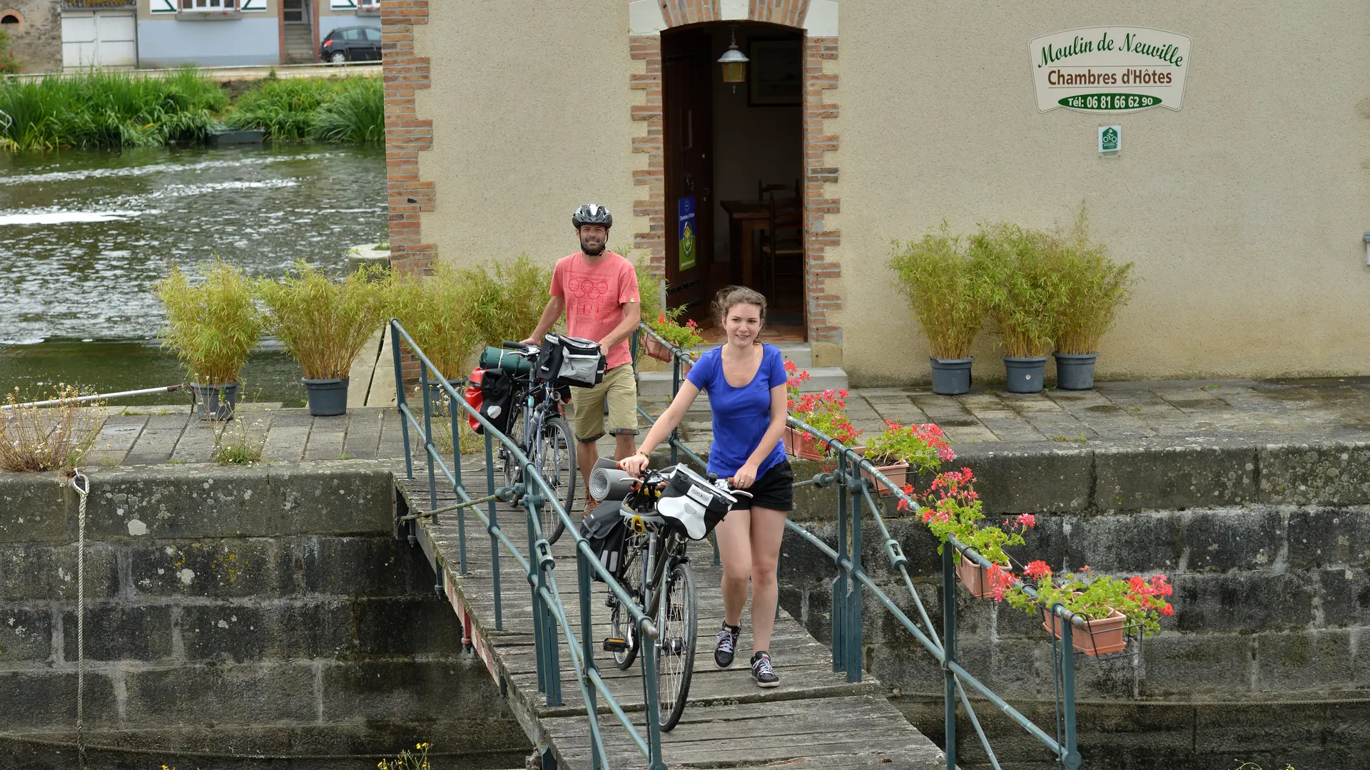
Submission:
M 643 316 L 633 263 L 606 248 L 614 218 L 603 206 L 586 203 L 571 216 L 581 251 L 556 262 L 552 271 L 552 297 L 543 310 L 529 345 L 543 345 L 543 337 L 566 312 L 566 333 L 593 340 L 607 358 L 604 381 L 593 388 L 571 389 L 571 432 L 575 433 L 575 463 L 585 481 L 585 512 L 595 501 L 589 497 L 590 471 L 599 452 L 595 443 L 604 436 L 604 403 L 608 403 L 608 434 L 614 436 L 614 459 L 632 455 L 637 447 L 637 382 L 633 378 L 633 353 L 629 338 Z

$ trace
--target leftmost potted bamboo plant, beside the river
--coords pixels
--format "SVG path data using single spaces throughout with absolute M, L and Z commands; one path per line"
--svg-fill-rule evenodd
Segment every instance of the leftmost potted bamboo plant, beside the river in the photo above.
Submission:
M 167 314 L 162 344 L 185 364 L 201 419 L 232 419 L 238 373 L 262 336 L 256 288 L 221 259 L 204 264 L 204 282 L 192 285 L 181 269 L 153 288 Z

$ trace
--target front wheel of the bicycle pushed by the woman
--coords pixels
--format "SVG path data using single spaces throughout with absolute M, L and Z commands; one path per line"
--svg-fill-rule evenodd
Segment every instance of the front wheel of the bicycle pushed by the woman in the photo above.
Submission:
M 663 586 L 656 612 L 662 636 L 656 640 L 656 700 L 662 706 L 662 732 L 681 721 L 695 673 L 695 634 L 699 606 L 695 601 L 695 573 L 689 562 L 677 562 Z

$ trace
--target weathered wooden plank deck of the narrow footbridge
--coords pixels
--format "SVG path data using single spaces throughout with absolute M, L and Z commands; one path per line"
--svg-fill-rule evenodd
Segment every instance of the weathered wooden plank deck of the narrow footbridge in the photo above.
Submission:
M 484 458 L 463 462 L 467 493 L 485 492 Z M 399 493 L 411 512 L 429 510 L 427 482 L 415 467 L 415 478 L 396 473 Z M 452 492 L 438 493 L 438 507 L 455 501 Z M 523 514 L 510 506 L 497 507 L 499 521 L 510 538 L 526 549 Z M 573 512 L 578 517 L 578 512 Z M 421 519 L 419 545 L 438 574 L 453 610 L 463 617 L 475 652 L 534 744 L 551 747 L 559 769 L 590 767 L 590 733 L 585 701 L 574 677 L 570 652 L 562 647 L 562 697 L 548 706 L 537 692 L 533 651 L 530 589 L 518 563 L 500 549 L 500 591 L 503 625 L 496 628 L 495 581 L 490 569 L 490 537 L 480 519 L 466 517 L 467 573 L 459 573 L 458 523 L 444 514 L 437 526 Z M 558 589 L 574 633 L 580 634 L 575 554 L 571 538 L 563 536 L 552 547 L 558 566 Z M 669 767 L 900 767 L 933 770 L 945 766 L 943 752 L 881 695 L 880 682 L 869 674 L 849 684 L 845 674 L 833 673 L 826 645 L 814 640 L 788 612 L 781 610 L 771 641 L 771 659 L 781 686 L 758 688 L 747 669 L 751 656 L 751 618 L 743 618 L 738 659 L 732 669 L 714 666 L 712 637 L 722 621 L 721 569 L 714 566 L 707 543 L 693 547 L 695 581 L 700 619 L 695 673 L 689 706 L 681 723 L 663 733 L 663 758 Z M 596 660 L 610 692 L 636 723 L 641 725 L 643 685 L 640 666 L 619 671 L 612 658 L 599 651 L 608 636 L 606 589 L 596 584 L 592 601 Z M 559 633 L 560 636 L 560 633 Z M 611 767 L 641 767 L 645 759 L 619 721 L 597 699 L 600 732 Z

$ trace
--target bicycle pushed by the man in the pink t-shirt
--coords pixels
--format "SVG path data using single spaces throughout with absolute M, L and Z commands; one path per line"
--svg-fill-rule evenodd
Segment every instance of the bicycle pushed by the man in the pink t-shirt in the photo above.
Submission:
M 536 362 L 541 348 L 508 340 L 503 343 L 503 347 L 529 362 L 527 371 L 511 375 L 512 392 L 510 393 L 507 436 L 533 463 L 538 475 L 551 486 L 552 495 L 560 500 L 562 507 L 570 512 L 571 504 L 575 501 L 575 474 L 578 471 L 575 467 L 575 441 L 562 414 L 562 392 L 553 382 L 541 380 L 536 374 Z M 536 440 L 529 441 L 527 437 Z M 514 486 L 522 481 L 523 469 L 508 447 L 499 444 L 496 462 L 500 463 L 506 486 Z M 516 500 L 514 507 L 518 507 Z M 562 532 L 566 530 L 566 522 L 556 515 L 551 506 L 543 507 L 540 523 L 543 537 L 548 543 L 556 543 L 562 537 Z

